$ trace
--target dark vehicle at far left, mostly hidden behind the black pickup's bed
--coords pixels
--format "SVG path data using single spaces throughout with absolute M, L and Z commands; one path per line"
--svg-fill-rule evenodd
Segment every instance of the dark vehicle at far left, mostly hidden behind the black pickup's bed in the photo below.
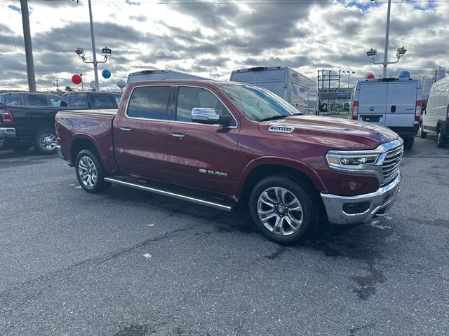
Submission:
M 0 106 L 4 104 L 17 106 L 60 106 L 61 97 L 57 94 L 38 92 L 7 92 L 0 94 Z M 15 144 L 0 137 L 0 150 Z

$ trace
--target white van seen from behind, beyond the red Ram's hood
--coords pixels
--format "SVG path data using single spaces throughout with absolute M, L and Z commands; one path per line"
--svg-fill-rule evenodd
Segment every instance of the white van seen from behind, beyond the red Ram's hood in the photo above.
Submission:
M 349 116 L 389 127 L 404 139 L 404 148 L 410 149 L 420 124 L 421 99 L 419 78 L 358 80 L 352 92 Z

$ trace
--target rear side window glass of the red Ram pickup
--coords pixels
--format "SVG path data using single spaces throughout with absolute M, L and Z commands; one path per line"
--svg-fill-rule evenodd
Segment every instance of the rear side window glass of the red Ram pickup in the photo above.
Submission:
M 169 86 L 136 87 L 129 99 L 127 114 L 133 118 L 168 119 Z

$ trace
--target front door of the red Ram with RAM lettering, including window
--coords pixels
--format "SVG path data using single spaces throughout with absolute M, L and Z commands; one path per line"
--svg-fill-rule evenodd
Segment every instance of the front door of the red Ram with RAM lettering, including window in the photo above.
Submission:
M 192 123 L 192 109 L 213 108 L 230 114 L 220 99 L 202 87 L 181 86 L 175 120 L 168 123 L 167 162 L 170 181 L 182 186 L 232 195 L 236 181 L 239 128 Z

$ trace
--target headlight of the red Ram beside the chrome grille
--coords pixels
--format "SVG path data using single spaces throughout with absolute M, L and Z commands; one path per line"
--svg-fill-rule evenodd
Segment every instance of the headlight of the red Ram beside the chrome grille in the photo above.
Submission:
M 351 151 L 329 151 L 326 160 L 330 168 L 361 170 L 366 165 L 375 165 L 379 154 L 351 152 Z

